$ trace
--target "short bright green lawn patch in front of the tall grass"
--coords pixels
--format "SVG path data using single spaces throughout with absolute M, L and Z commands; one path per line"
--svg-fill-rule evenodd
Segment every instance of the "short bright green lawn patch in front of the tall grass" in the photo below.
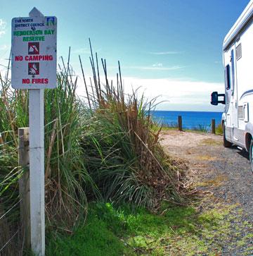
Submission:
M 212 195 L 207 200 L 212 202 Z M 94 203 L 86 225 L 72 236 L 51 233 L 47 255 L 221 255 L 228 241 L 228 248 L 250 243 L 250 237 L 238 236 L 238 229 L 250 224 L 241 223 L 237 205 L 207 207 L 204 200 L 200 205 L 205 207 L 164 204 L 152 214 L 141 207 L 133 212 L 127 205 Z

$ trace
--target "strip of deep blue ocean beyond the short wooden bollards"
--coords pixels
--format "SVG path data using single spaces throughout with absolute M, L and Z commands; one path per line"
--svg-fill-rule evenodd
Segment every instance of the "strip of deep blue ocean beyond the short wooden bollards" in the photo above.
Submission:
M 212 119 L 215 119 L 216 126 L 221 123 L 221 112 L 202 111 L 153 111 L 152 116 L 158 123 L 164 126 L 176 126 L 178 116 L 182 116 L 184 129 L 200 128 L 200 126 L 211 129 Z

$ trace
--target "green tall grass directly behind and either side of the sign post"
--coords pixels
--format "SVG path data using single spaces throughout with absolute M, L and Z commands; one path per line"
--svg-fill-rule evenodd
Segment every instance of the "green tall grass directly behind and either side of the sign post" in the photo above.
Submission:
M 99 195 L 96 185 L 86 171 L 83 157 L 82 102 L 75 94 L 76 81 L 69 79 L 70 68 L 59 71 L 58 88 L 45 91 L 45 201 L 48 226 L 66 230 L 87 211 L 86 186 Z M 28 92 L 12 90 L 8 75 L 1 77 L 0 88 L 0 217 L 20 199 L 18 178 L 18 127 L 28 126 Z M 20 227 L 18 205 L 0 219 L 0 249 Z M 57 224 L 57 225 L 56 225 Z M 13 243 L 4 254 L 16 254 Z M 21 243 L 22 244 L 22 243 Z

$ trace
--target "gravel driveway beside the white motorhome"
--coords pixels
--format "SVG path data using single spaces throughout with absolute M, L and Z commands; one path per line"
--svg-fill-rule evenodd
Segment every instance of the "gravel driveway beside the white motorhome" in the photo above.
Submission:
M 240 221 L 248 222 L 238 236 L 253 237 L 253 173 L 250 169 L 247 153 L 237 147 L 224 148 L 219 135 L 179 132 L 168 130 L 162 134 L 161 144 L 172 157 L 186 159 L 194 178 L 200 182 L 209 182 L 208 190 L 220 202 L 238 205 L 242 215 Z M 198 189 L 207 189 L 203 188 Z M 223 245 L 223 255 L 253 255 L 253 238 L 247 245 L 229 247 Z M 252 253 L 251 253 L 252 252 Z

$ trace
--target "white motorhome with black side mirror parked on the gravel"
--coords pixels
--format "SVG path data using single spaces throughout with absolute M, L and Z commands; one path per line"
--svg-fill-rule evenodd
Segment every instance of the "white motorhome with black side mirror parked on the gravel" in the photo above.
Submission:
M 225 94 L 212 93 L 211 104 L 225 104 L 223 145 L 249 152 L 253 171 L 253 0 L 229 30 L 223 42 Z M 219 100 L 219 97 L 222 97 Z

